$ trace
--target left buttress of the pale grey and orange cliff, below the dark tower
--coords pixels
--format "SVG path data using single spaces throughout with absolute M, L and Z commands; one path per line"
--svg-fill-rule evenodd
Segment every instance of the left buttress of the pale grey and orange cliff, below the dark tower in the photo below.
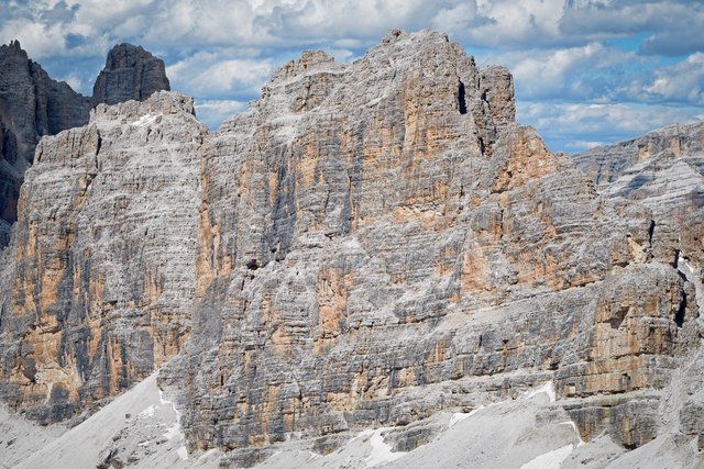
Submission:
M 7 256 L 6 402 L 70 418 L 180 349 L 206 134 L 193 100 L 166 92 L 100 104 L 88 126 L 42 139 Z

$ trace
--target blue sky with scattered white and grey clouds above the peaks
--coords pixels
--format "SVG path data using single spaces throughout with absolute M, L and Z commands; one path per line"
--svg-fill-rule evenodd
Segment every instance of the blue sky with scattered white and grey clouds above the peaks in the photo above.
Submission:
M 351 63 L 391 29 L 447 33 L 514 74 L 517 121 L 576 153 L 704 119 L 704 0 L 0 0 L 0 43 L 92 93 L 129 42 L 211 129 L 304 49 Z

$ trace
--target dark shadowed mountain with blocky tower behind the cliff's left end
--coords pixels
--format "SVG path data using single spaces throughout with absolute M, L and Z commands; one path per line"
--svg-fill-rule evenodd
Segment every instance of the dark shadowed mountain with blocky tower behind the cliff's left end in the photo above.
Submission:
M 86 125 L 98 103 L 144 100 L 164 89 L 169 89 L 164 63 L 139 46 L 110 51 L 92 98 L 50 78 L 18 41 L 0 46 L 0 246 L 10 239 L 22 178 L 42 136 Z

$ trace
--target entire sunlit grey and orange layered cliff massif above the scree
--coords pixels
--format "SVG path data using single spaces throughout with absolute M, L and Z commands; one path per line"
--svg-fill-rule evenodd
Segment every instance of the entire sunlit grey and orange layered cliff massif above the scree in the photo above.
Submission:
M 392 31 L 304 53 L 213 134 L 190 110 L 160 92 L 40 145 L 0 280 L 13 407 L 70 418 L 167 362 L 189 450 L 238 467 L 370 426 L 410 450 L 546 381 L 540 418 L 585 440 L 700 438 L 703 214 L 600 193 L 515 122 L 506 69 Z

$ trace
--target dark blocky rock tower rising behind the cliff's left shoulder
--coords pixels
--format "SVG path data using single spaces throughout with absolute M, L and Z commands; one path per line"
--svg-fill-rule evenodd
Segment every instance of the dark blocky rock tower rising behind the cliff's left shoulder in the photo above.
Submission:
M 114 46 L 92 87 L 91 103 L 117 104 L 129 100 L 144 101 L 152 93 L 170 90 L 164 60 L 141 46 Z

